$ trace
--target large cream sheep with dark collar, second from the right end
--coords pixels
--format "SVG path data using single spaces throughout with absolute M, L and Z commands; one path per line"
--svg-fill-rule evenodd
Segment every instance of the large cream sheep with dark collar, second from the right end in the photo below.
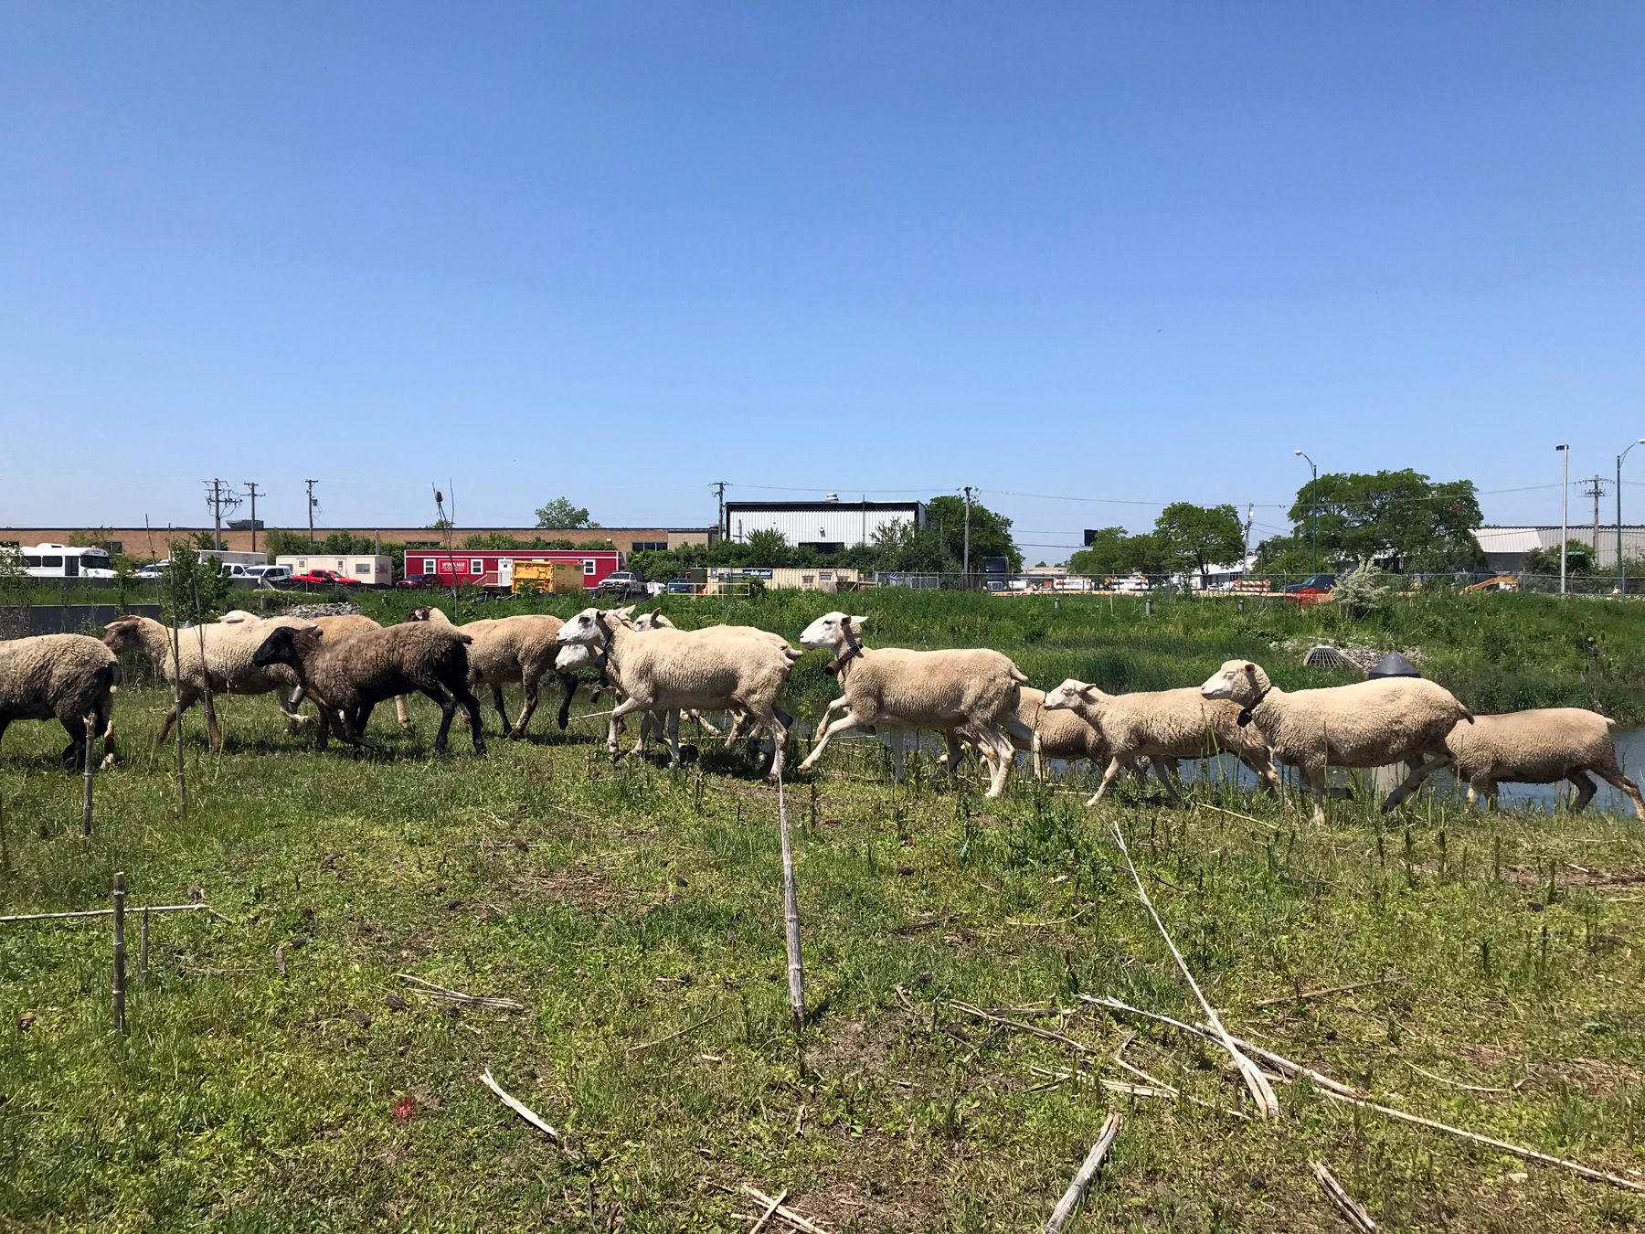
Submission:
M 1411 763 L 1410 775 L 1382 803 L 1387 814 L 1451 763 L 1451 729 L 1474 722 L 1449 689 L 1410 676 L 1286 693 L 1258 665 L 1229 660 L 1199 693 L 1237 703 L 1240 726 L 1253 724 L 1273 757 L 1298 768 L 1314 795 L 1319 826 L 1326 821 L 1326 767 Z

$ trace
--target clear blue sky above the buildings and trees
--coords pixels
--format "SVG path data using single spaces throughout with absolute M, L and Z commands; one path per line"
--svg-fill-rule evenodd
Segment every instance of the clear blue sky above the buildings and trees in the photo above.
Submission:
M 1033 561 L 1645 436 L 1632 2 L 49 0 L 0 115 L 0 525 L 974 484 Z

